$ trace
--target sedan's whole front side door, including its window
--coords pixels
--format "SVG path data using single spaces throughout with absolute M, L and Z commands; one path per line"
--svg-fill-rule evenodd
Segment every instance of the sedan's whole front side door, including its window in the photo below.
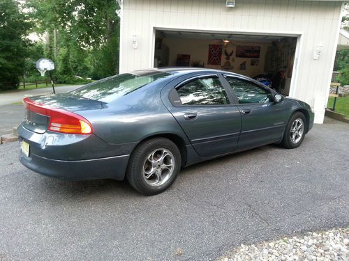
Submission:
M 242 113 L 237 150 L 274 143 L 282 138 L 287 115 L 283 102 L 274 102 L 272 91 L 248 79 L 225 75 Z

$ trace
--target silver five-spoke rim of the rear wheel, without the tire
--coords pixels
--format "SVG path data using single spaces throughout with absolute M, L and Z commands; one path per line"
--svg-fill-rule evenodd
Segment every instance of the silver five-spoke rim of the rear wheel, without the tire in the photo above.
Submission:
M 151 152 L 143 164 L 145 182 L 153 187 L 161 186 L 170 179 L 174 171 L 174 157 L 169 150 L 157 149 Z

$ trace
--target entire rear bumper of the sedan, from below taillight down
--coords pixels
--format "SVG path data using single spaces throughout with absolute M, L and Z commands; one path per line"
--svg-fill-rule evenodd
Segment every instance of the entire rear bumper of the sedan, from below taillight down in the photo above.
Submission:
M 29 157 L 20 151 L 24 166 L 61 180 L 124 180 L 128 158 L 135 144 L 113 145 L 94 134 L 57 132 L 38 134 L 18 127 L 20 147 L 28 143 Z

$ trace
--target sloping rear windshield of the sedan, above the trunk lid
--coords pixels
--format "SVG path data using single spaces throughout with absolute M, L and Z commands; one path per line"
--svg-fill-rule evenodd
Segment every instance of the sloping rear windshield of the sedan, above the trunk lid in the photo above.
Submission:
M 137 71 L 119 74 L 74 90 L 73 95 L 86 99 L 112 102 L 153 81 L 170 76 L 167 72 Z

